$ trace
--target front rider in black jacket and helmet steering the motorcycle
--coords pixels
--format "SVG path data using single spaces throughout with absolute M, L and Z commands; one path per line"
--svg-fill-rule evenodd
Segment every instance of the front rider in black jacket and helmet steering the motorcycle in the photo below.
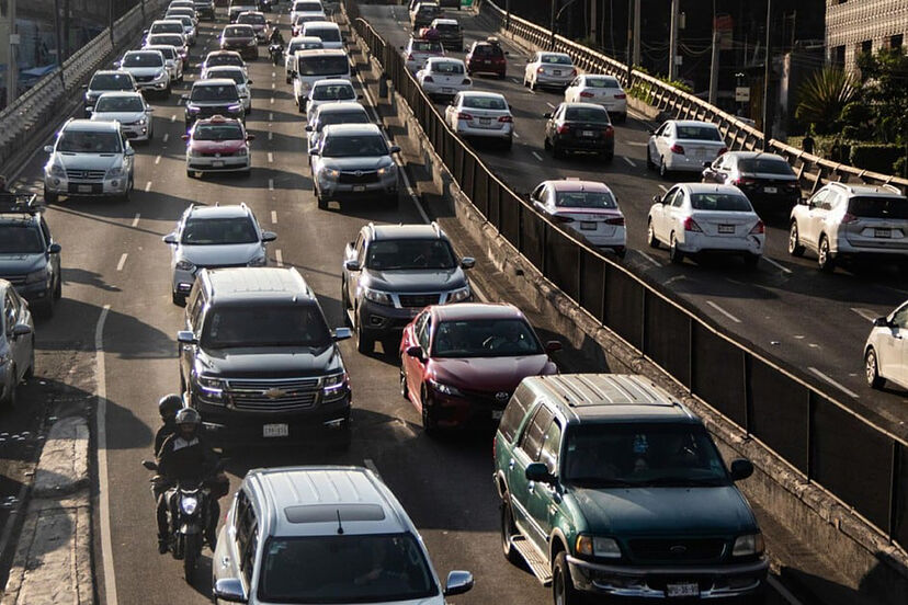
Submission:
M 227 477 L 220 472 L 212 478 L 217 468 L 217 454 L 207 445 L 202 436 L 202 416 L 193 408 L 183 408 L 177 412 L 174 420 L 177 432 L 167 437 L 158 453 L 158 475 L 163 483 L 163 493 L 158 498 L 158 551 L 163 555 L 168 549 L 169 526 L 168 504 L 174 491 L 171 489 L 177 482 L 205 481 L 208 488 L 208 526 L 205 528 L 205 540 L 214 550 L 217 520 L 220 516 L 218 498 L 229 491 Z

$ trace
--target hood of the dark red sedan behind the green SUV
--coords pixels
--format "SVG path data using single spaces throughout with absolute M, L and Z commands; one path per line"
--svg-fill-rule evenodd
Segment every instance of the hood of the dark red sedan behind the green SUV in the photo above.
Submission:
M 508 391 L 527 376 L 547 374 L 548 355 L 522 357 L 433 358 L 429 372 L 439 383 L 473 391 Z

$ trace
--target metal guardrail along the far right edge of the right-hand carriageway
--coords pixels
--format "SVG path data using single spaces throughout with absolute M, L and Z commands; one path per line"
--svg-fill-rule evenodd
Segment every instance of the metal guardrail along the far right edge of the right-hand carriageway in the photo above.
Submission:
M 650 105 L 669 112 L 679 119 L 702 119 L 716 124 L 729 149 L 748 151 L 763 149 L 763 133 L 693 94 L 680 91 L 652 76 L 637 70 L 631 72 L 631 81 L 628 82 L 626 64 L 560 35 L 555 36 L 555 47 L 553 48 L 552 32 L 549 30 L 513 14 L 507 18 L 504 10 L 499 8 L 492 0 L 483 0 L 479 12 L 488 16 L 499 30 L 523 38 L 534 46 L 567 53 L 574 58 L 575 64 L 587 72 L 609 73 L 617 77 L 626 90 L 629 91 L 633 88 L 642 90 Z M 767 148 L 785 158 L 797 174 L 802 189 L 811 193 L 829 181 L 874 185 L 890 184 L 899 187 L 903 193 L 908 193 L 908 179 L 832 162 L 805 153 L 801 149 L 795 149 L 776 139 L 770 139 Z

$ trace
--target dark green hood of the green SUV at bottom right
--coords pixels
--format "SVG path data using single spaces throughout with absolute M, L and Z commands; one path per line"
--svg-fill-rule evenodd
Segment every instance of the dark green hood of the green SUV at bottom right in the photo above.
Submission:
M 735 486 L 570 488 L 588 529 L 603 535 L 738 534 L 757 528 Z

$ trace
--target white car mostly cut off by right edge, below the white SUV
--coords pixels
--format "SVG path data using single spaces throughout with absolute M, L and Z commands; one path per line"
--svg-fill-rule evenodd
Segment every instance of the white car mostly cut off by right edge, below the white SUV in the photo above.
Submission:
M 878 389 L 886 380 L 908 389 L 908 302 L 873 322 L 864 345 L 867 385 Z

